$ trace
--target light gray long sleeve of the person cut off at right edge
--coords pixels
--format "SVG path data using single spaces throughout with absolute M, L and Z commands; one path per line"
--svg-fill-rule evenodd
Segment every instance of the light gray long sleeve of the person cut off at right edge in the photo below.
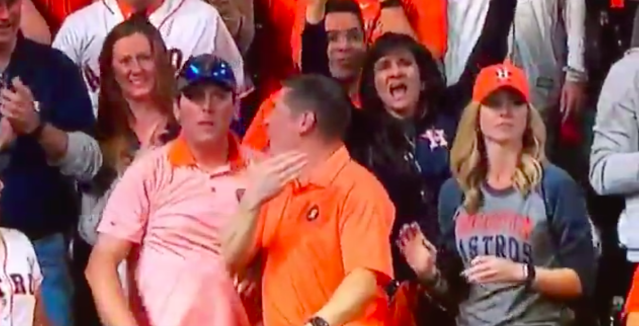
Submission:
M 590 183 L 600 195 L 639 192 L 639 60 L 619 61 L 606 77 L 594 126 Z

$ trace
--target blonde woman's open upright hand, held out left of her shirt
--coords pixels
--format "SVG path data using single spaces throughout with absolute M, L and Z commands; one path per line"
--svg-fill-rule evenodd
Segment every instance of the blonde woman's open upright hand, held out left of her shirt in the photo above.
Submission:
M 437 249 L 426 239 L 417 223 L 402 226 L 397 246 L 420 279 L 432 280 L 436 276 Z

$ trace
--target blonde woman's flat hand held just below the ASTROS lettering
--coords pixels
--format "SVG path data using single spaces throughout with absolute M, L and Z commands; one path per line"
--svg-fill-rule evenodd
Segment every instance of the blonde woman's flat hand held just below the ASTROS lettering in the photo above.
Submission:
M 520 283 L 526 278 L 524 265 L 495 256 L 473 258 L 462 275 L 474 284 Z

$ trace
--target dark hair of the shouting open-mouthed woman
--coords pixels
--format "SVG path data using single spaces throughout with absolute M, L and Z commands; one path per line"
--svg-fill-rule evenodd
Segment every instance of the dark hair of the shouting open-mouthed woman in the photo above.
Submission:
M 416 116 L 409 121 L 401 121 L 393 117 L 386 110 L 382 99 L 375 89 L 375 64 L 384 56 L 393 52 L 407 50 L 410 52 L 419 69 L 422 90 L 419 95 Z M 412 37 L 404 34 L 385 33 L 380 36 L 368 50 L 362 67 L 359 96 L 362 112 L 353 116 L 354 123 L 349 131 L 347 141 L 375 144 L 375 153 L 369 157 L 369 164 L 395 165 L 396 168 L 410 168 L 406 165 L 403 155 L 407 146 L 407 131 L 420 131 L 422 126 L 429 124 L 435 117 L 443 113 L 442 99 L 445 92 L 444 78 L 437 67 L 430 52 Z M 368 139 L 361 139 L 366 137 Z M 360 138 L 360 139 L 357 139 Z

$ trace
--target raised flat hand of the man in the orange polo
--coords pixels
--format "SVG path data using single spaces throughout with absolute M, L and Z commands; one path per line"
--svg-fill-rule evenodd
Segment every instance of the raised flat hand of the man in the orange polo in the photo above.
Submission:
M 252 184 L 246 189 L 241 204 L 249 210 L 257 209 L 278 194 L 287 183 L 299 177 L 307 163 L 305 154 L 287 152 L 251 164 L 248 180 Z

